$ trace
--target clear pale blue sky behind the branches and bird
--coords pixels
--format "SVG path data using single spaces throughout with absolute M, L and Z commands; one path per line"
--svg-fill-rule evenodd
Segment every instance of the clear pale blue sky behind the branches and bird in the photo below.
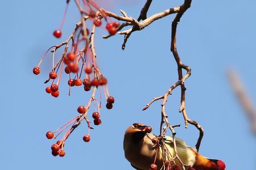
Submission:
M 125 10 L 137 18 L 144 1 L 110 1 L 106 9 Z M 155 1 L 148 15 L 176 6 L 183 1 Z M 255 169 L 255 136 L 243 109 L 228 82 L 227 70 L 237 70 L 249 96 L 256 101 L 255 29 L 256 2 L 192 1 L 178 26 L 177 48 L 182 61 L 192 69 L 187 87 L 187 112 L 200 122 L 205 136 L 201 154 L 221 159 L 227 169 Z M 103 40 L 98 29 L 96 51 L 98 65 L 109 80 L 110 94 L 115 97 L 112 110 L 101 110 L 102 125 L 92 131 L 89 143 L 82 141 L 85 124 L 66 142 L 67 155 L 51 155 L 53 141 L 46 139 L 48 130 L 57 129 L 76 116 L 78 105 L 89 95 L 81 88 L 67 94 L 63 86 L 59 99 L 44 92 L 48 71 L 34 76 L 37 65 L 49 46 L 59 44 L 71 33 L 79 12 L 72 2 L 63 37 L 55 39 L 65 1 L 3 1 L 1 19 L 1 169 L 131 169 L 123 155 L 122 140 L 127 126 L 134 122 L 151 125 L 158 133 L 160 101 L 142 112 L 152 97 L 160 96 L 177 80 L 176 63 L 170 53 L 170 29 L 174 15 L 158 20 L 141 32 L 134 32 L 121 50 L 122 36 Z M 65 82 L 63 82 L 65 83 Z M 167 112 L 172 124 L 183 125 L 178 112 L 180 89 L 169 96 Z M 176 129 L 177 137 L 188 145 L 196 143 L 198 132 L 189 126 Z

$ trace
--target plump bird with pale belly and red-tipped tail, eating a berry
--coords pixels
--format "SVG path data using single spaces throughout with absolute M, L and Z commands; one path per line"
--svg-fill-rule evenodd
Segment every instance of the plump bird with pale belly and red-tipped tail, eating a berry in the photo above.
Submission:
M 167 160 L 170 160 L 170 157 L 167 157 L 167 155 L 171 155 L 172 158 L 175 156 L 173 138 L 164 136 L 162 138 L 163 145 L 158 145 L 157 139 L 159 138 L 150 133 L 151 130 L 152 128 L 150 126 L 141 123 L 134 123 L 127 128 L 123 139 L 125 158 L 137 170 L 169 169 L 166 168 L 170 165 L 170 162 L 169 164 L 167 163 Z M 175 141 L 177 155 L 183 164 L 186 165 L 185 169 L 225 170 L 226 165 L 221 160 L 209 159 L 200 155 L 195 148 L 187 146 L 180 138 L 175 137 Z M 158 150 L 157 153 L 156 150 Z M 164 154 L 167 153 L 167 150 L 169 154 Z M 156 165 L 156 168 L 152 168 L 152 164 Z M 177 159 L 174 159 L 174 162 L 171 164 L 179 167 L 176 169 L 182 169 L 183 167 Z

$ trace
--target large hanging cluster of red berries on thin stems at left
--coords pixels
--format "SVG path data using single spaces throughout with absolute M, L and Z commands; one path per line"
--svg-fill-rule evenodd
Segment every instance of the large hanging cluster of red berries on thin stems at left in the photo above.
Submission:
M 65 16 L 67 14 L 68 5 L 70 1 L 67 1 L 67 7 L 65 9 L 64 17 L 61 22 L 60 28 L 56 29 L 53 32 L 53 36 L 56 38 L 61 38 L 62 32 L 61 28 L 63 27 Z M 79 1 L 77 1 L 79 2 Z M 60 91 L 60 82 L 63 71 L 68 75 L 68 95 L 71 95 L 72 87 L 84 86 L 84 91 L 91 91 L 92 95 L 89 98 L 89 101 L 86 105 L 80 105 L 77 108 L 79 116 L 72 118 L 66 124 L 61 126 L 55 131 L 48 131 L 46 137 L 48 139 L 56 139 L 63 131 L 66 130 L 63 138 L 60 141 L 54 143 L 51 147 L 53 156 L 64 156 L 64 143 L 71 135 L 72 131 L 75 130 L 83 120 L 86 121 L 88 125 L 88 134 L 84 135 L 82 138 L 84 142 L 90 141 L 90 129 L 93 129 L 90 126 L 90 120 L 87 116 L 90 105 L 94 103 L 95 111 L 92 113 L 94 125 L 102 124 L 100 119 L 100 109 L 101 105 L 101 94 L 100 101 L 95 97 L 96 91 L 100 88 L 100 93 L 104 92 L 106 98 L 106 108 L 112 109 L 114 103 L 114 97 L 110 96 L 108 90 L 108 80 L 105 76 L 102 75 L 99 67 L 96 62 L 96 53 L 94 49 L 94 34 L 96 27 L 101 27 L 102 20 L 106 22 L 106 27 L 102 27 L 109 32 L 109 35 L 115 35 L 119 27 L 118 22 L 113 22 L 111 18 L 100 10 L 100 8 L 92 0 L 82 1 L 84 6 L 79 6 L 81 12 L 81 22 L 76 24 L 76 28 L 72 32 L 71 36 L 64 42 L 59 45 L 52 46 L 47 50 L 42 59 L 40 60 L 38 66 L 34 67 L 33 73 L 35 75 L 40 74 L 40 65 L 43 59 L 46 57 L 48 52 L 52 53 L 52 69 L 49 71 L 49 76 L 44 83 L 51 82 L 49 86 L 46 87 L 47 94 L 51 94 L 53 97 L 59 97 Z M 84 9 L 81 11 L 81 8 Z M 86 22 L 92 22 L 92 29 L 86 28 Z M 69 48 L 71 45 L 71 48 Z M 60 49 L 61 46 L 64 46 L 63 55 L 55 61 L 56 50 Z

